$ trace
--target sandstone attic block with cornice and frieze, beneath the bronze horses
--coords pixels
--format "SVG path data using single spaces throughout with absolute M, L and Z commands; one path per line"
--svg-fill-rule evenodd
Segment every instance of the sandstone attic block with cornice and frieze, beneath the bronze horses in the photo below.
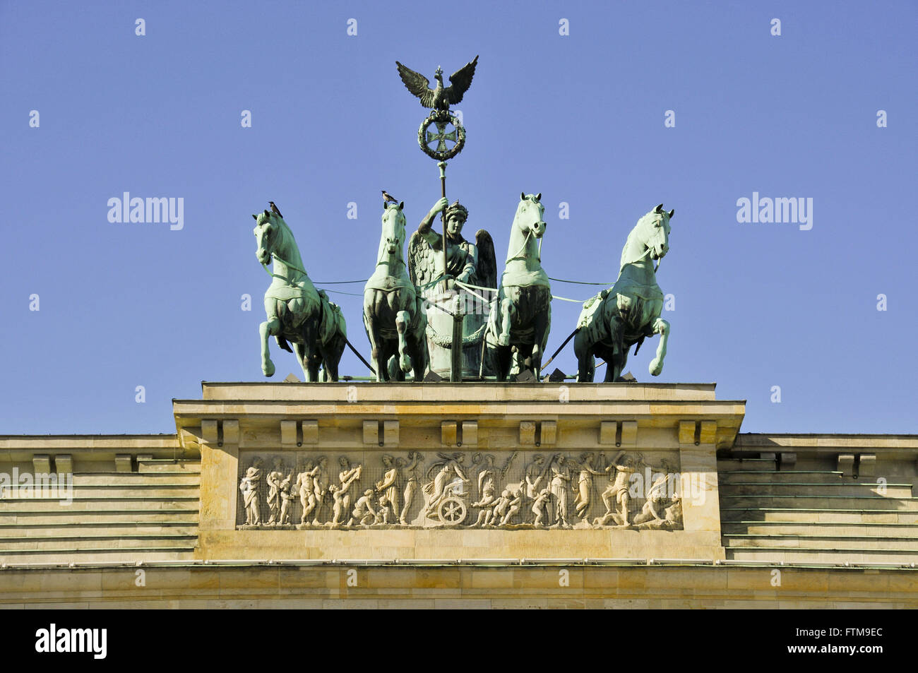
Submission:
M 710 561 L 715 452 L 744 402 L 712 384 L 228 383 L 174 413 L 201 453 L 201 558 Z

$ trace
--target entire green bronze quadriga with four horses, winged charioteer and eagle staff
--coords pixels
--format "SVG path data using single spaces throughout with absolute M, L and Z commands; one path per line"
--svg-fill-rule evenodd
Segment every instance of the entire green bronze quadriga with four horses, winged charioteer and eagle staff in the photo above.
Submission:
M 411 235 L 406 258 L 404 202 L 383 190 L 379 252 L 364 286 L 364 328 L 373 365 L 357 353 L 374 370 L 376 381 L 404 381 L 409 373 L 416 381 L 431 373 L 452 381 L 483 376 L 506 381 L 526 372 L 527 379 L 541 376 L 553 298 L 541 260 L 546 226 L 542 195 L 521 194 L 499 282 L 491 235 L 477 230 L 474 242 L 466 240 L 462 232 L 468 208 L 459 201 L 450 205 L 446 198 L 445 160 L 465 145 L 465 129 L 450 106 L 463 99 L 477 61 L 476 56 L 453 73 L 448 87 L 438 67 L 434 88 L 423 75 L 396 62 L 409 92 L 431 109 L 418 141 L 439 161 L 441 198 Z M 287 351 L 288 342 L 293 343 L 307 381 L 318 380 L 320 368 L 323 379 L 337 380 L 347 344 L 341 309 L 309 281 L 293 233 L 274 203 L 271 208 L 273 212 L 252 216 L 258 259 L 265 269 L 274 262 L 274 273 L 268 272 L 273 280 L 264 294 L 267 320 L 260 328 L 263 373 L 274 374 L 268 353 L 268 337 L 274 336 Z M 432 228 L 438 214 L 442 233 Z M 649 369 L 653 376 L 662 372 L 669 323 L 660 318 L 664 296 L 652 260 L 662 259 L 669 249 L 673 215 L 660 204 L 638 220 L 621 252 L 618 280 L 584 304 L 577 331 L 558 349 L 574 338 L 578 381 L 593 380 L 597 356 L 609 365 L 606 382 L 620 381 L 631 346 L 640 348 L 646 337 L 657 333 L 661 338 Z

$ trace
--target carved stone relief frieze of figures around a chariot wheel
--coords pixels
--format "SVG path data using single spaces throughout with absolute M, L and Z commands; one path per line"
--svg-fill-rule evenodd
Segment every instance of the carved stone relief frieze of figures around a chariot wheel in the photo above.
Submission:
M 682 528 L 675 451 L 243 451 L 247 528 Z M 702 493 L 703 497 L 703 493 Z

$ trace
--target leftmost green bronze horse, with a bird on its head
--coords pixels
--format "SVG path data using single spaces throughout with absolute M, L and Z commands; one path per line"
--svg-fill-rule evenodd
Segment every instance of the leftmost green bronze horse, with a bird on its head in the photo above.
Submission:
M 264 293 L 265 320 L 259 327 L 262 337 L 262 371 L 274 376 L 274 363 L 268 337 L 274 336 L 285 351 L 296 353 L 307 381 L 338 380 L 338 364 L 347 342 L 341 308 L 330 302 L 324 291 L 316 290 L 303 268 L 303 260 L 280 212 L 264 210 L 255 219 L 255 255 L 267 270 L 274 262 L 271 285 Z M 293 349 L 290 348 L 293 344 Z

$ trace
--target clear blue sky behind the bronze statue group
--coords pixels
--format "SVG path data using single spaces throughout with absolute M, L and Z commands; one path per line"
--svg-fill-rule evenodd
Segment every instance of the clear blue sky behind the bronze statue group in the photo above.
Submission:
M 171 432 L 201 380 L 264 380 L 251 213 L 278 204 L 319 285 L 367 277 L 379 190 L 410 228 L 440 190 L 395 61 L 432 80 L 476 54 L 447 193 L 498 263 L 521 191 L 543 193 L 549 274 L 583 281 L 614 281 L 663 201 L 676 310 L 653 380 L 716 381 L 748 400 L 748 432 L 918 432 L 916 19 L 913 2 L 2 2 L 0 433 Z M 123 192 L 183 197 L 184 229 L 110 223 Z M 738 223 L 753 192 L 812 198 L 812 230 Z M 366 353 L 360 297 L 335 297 Z M 554 302 L 549 350 L 577 313 Z M 629 362 L 641 381 L 654 348 Z M 576 370 L 570 346 L 555 362 Z

